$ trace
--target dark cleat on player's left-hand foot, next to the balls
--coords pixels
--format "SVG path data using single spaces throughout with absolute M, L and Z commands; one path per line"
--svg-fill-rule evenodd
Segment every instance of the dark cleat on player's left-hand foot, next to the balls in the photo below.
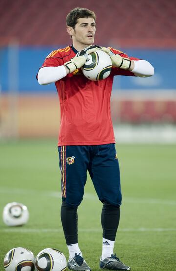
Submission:
M 87 265 L 84 258 L 80 256 L 80 253 L 78 255 L 75 253 L 74 258 L 68 261 L 68 268 L 78 271 L 91 271 L 91 268 Z

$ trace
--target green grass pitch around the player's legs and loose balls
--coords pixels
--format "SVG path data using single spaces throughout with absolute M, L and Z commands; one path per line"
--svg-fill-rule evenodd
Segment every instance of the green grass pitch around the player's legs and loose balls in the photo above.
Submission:
M 114 252 L 132 271 L 176 270 L 176 145 L 117 145 L 123 204 Z M 57 248 L 68 258 L 60 222 L 60 172 L 54 140 L 0 143 L 0 213 L 12 201 L 28 206 L 29 222 L 0 219 L 0 271 L 5 254 Z M 79 246 L 99 271 L 101 203 L 88 176 L 79 206 Z

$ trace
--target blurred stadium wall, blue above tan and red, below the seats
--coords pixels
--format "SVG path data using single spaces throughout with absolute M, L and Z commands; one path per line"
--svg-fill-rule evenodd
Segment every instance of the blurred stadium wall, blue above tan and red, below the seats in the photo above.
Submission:
M 54 84 L 40 86 L 38 68 L 55 48 L 19 48 L 16 67 L 9 70 L 12 50 L 0 50 L 0 137 L 56 137 L 59 102 Z M 122 49 L 123 50 L 123 49 Z M 111 111 L 116 124 L 176 124 L 176 50 L 125 50 L 129 56 L 149 60 L 155 74 L 150 78 L 115 77 Z M 165 65 L 161 63 L 163 55 Z M 14 81 L 13 81 L 14 80 Z M 15 83 L 16 80 L 16 83 Z M 14 83 L 14 84 L 13 84 Z

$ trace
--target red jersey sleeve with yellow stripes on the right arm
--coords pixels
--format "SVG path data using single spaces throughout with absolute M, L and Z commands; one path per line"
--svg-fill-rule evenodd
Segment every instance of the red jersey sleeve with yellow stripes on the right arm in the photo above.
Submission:
M 114 49 L 112 47 L 109 47 L 109 49 L 114 54 L 119 54 L 123 58 L 127 58 L 127 59 L 130 59 L 130 60 L 140 60 L 139 58 L 136 58 L 136 57 L 132 57 L 132 56 L 129 57 L 127 54 L 123 53 L 122 51 Z M 112 73 L 113 73 L 113 75 L 135 76 L 135 74 L 132 71 L 125 70 L 125 69 L 122 69 L 122 68 L 117 68 L 117 67 L 112 68 Z

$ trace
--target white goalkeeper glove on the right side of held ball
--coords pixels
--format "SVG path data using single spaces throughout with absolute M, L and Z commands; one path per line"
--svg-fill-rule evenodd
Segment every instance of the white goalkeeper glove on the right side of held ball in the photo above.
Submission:
M 122 68 L 122 69 L 130 68 L 130 65 L 131 65 L 130 59 L 123 58 L 118 54 L 116 55 L 112 51 L 110 51 L 110 49 L 105 48 L 105 47 L 101 47 L 100 50 L 107 53 L 110 56 L 112 60 L 112 66 Z

